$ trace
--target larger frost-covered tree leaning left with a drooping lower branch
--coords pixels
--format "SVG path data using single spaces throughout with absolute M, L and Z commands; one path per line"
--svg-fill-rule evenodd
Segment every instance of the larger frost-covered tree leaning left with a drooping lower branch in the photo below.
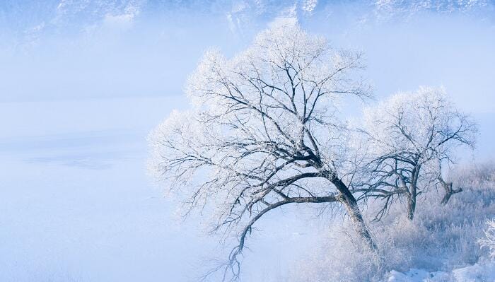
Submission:
M 253 226 L 286 204 L 342 206 L 375 249 L 349 191 L 356 158 L 339 117 L 342 98 L 369 95 L 362 68 L 359 53 L 276 25 L 233 59 L 206 52 L 187 82 L 192 110 L 173 112 L 151 134 L 152 169 L 170 191 L 189 209 L 211 209 L 214 230 L 238 236 L 233 277 Z

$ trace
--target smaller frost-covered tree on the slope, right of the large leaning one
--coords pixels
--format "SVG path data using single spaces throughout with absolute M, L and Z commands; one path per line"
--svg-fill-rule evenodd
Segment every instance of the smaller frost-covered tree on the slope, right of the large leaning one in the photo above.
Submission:
M 452 183 L 443 180 L 441 165 L 453 161 L 458 146 L 474 146 L 476 132 L 474 122 L 455 108 L 443 88 L 423 87 L 392 95 L 366 108 L 363 133 L 371 161 L 361 192 L 384 199 L 378 216 L 397 196 L 405 196 L 407 216 L 412 220 L 420 180 L 441 184 L 446 203 L 462 190 L 452 189 Z

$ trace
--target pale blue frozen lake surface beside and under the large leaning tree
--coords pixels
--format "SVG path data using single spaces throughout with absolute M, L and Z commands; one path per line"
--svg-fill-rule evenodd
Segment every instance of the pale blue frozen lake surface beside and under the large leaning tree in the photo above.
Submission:
M 196 281 L 223 258 L 228 248 L 177 221 L 146 175 L 146 135 L 173 107 L 187 102 L 0 104 L 0 281 Z M 279 277 L 318 233 L 293 216 L 259 227 L 245 261 L 253 281 Z

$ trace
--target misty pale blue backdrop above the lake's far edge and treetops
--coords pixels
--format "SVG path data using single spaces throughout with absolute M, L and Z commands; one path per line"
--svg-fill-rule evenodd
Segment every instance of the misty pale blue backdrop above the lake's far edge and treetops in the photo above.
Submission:
M 0 102 L 182 95 L 205 49 L 232 56 L 292 17 L 363 51 L 377 98 L 445 86 L 482 127 L 494 117 L 491 1 L 40 2 L 0 4 Z

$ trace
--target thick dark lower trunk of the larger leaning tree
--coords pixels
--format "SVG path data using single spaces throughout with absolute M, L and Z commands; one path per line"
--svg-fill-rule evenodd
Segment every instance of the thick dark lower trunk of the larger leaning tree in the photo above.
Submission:
M 337 177 L 332 177 L 330 179 L 330 182 L 332 182 L 332 184 L 337 187 L 337 190 L 339 190 L 342 196 L 342 204 L 344 204 L 352 223 L 354 223 L 356 232 L 361 236 L 361 238 L 363 238 L 366 245 L 373 252 L 376 252 L 378 248 L 376 247 L 375 242 L 373 241 L 373 238 L 368 231 L 368 228 L 366 228 L 366 224 L 364 223 L 361 211 L 359 211 L 359 206 L 356 198 L 354 198 L 354 195 L 349 191 L 349 188 L 346 184 L 344 184 L 344 182 L 342 182 L 342 180 L 338 179 Z

